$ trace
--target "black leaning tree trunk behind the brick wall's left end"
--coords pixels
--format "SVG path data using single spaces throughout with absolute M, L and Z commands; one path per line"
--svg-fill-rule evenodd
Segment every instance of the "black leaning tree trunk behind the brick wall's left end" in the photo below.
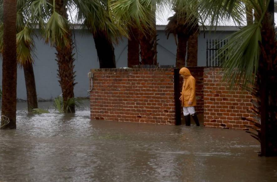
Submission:
M 100 68 L 116 68 L 114 47 L 111 38 L 107 37 L 106 32 L 100 30 L 93 35 L 93 38 Z

